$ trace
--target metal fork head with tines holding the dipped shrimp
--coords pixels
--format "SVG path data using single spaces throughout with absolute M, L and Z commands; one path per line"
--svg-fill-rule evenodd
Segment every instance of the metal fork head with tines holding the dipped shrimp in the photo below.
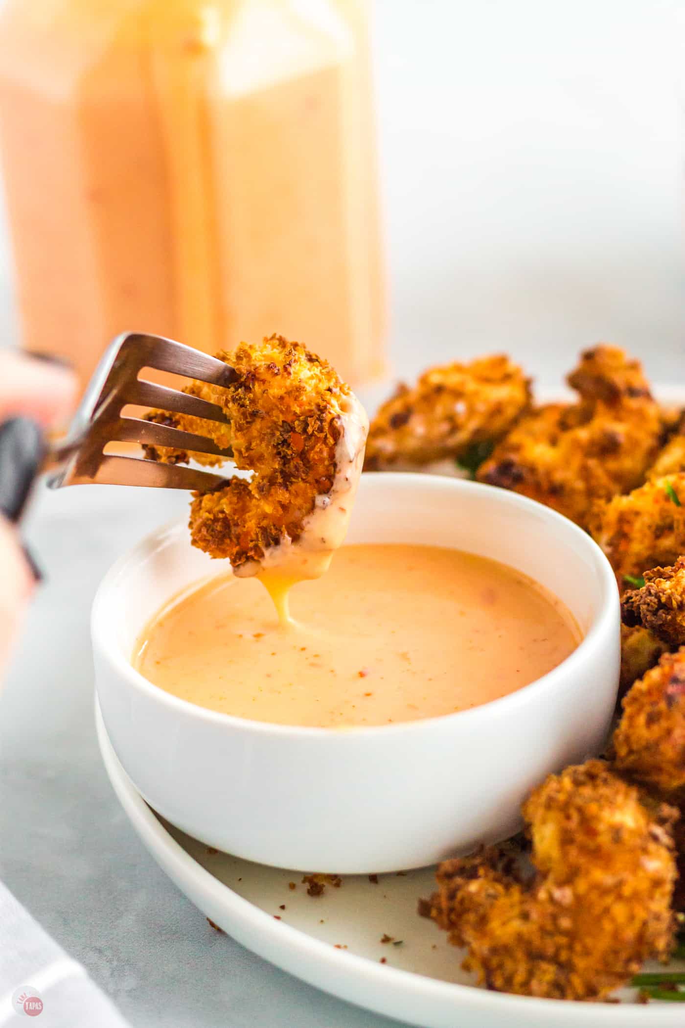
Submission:
M 170 446 L 223 457 L 232 455 L 230 449 L 222 449 L 204 436 L 123 416 L 122 408 L 136 404 L 229 424 L 218 404 L 139 377 L 144 368 L 170 371 L 214 386 L 229 386 L 237 378 L 235 369 L 223 361 L 173 339 L 138 332 L 117 336 L 96 368 L 67 437 L 48 450 L 48 458 L 58 463 L 48 473 L 52 488 L 108 484 L 204 491 L 226 481 L 221 475 L 194 468 L 105 453 L 107 443 L 116 441 Z

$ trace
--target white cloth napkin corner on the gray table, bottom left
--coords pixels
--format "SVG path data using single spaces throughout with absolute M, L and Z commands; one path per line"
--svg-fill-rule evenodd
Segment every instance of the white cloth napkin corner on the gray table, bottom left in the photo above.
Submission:
M 127 1028 L 85 967 L 69 957 L 0 882 L 0 1028 L 23 1023 L 37 1028 Z

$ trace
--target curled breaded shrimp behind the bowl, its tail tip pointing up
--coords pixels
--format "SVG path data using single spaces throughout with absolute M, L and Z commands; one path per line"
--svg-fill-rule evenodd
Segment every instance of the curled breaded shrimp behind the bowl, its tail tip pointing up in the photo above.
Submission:
M 585 351 L 568 382 L 580 402 L 549 404 L 522 417 L 477 477 L 586 528 L 598 500 L 644 481 L 661 421 L 640 363 L 616 346 Z

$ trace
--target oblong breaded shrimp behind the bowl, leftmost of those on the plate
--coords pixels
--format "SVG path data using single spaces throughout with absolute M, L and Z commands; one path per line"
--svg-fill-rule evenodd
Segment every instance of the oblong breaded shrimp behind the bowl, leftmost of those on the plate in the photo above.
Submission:
M 503 355 L 430 368 L 413 389 L 399 386 L 379 409 L 365 468 L 457 458 L 501 438 L 529 402 L 529 379 Z

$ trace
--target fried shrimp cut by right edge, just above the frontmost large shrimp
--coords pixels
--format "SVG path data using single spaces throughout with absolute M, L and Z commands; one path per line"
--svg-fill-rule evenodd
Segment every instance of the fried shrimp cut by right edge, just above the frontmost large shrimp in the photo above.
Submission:
M 685 647 L 667 653 L 622 700 L 617 770 L 673 802 L 685 800 Z

